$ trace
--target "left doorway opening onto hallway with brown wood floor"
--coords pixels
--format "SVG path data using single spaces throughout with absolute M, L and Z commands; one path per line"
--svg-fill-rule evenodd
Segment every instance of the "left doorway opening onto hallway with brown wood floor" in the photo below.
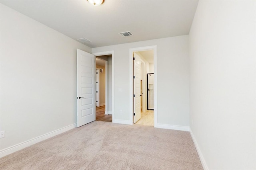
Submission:
M 109 102 L 112 99 L 111 95 L 111 76 L 109 69 L 111 68 L 112 55 L 97 55 L 96 56 L 96 121 L 112 122 L 112 114 L 109 110 Z M 110 66 L 109 66 L 110 65 Z M 111 102 L 110 102 L 111 103 Z

